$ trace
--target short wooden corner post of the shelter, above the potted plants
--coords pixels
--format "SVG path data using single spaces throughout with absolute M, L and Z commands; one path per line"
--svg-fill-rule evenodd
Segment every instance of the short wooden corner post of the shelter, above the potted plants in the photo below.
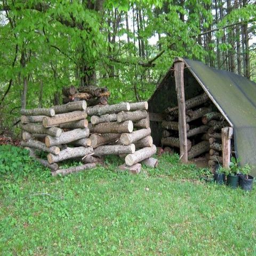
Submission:
M 221 129 L 222 137 L 222 161 L 223 167 L 228 168 L 230 163 L 230 154 L 231 154 L 231 138 L 233 137 L 233 128 L 224 127 Z

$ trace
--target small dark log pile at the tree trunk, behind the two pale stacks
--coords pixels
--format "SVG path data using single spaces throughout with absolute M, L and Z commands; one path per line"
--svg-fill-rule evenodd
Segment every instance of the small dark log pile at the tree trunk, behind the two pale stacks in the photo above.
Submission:
M 109 96 L 107 87 L 80 86 L 77 89 L 75 86 L 70 86 L 62 89 L 63 103 L 86 100 L 87 106 L 107 105 Z

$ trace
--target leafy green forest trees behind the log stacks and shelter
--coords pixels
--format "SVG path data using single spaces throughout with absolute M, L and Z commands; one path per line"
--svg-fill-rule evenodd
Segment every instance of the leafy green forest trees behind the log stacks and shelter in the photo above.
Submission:
M 250 0 L 0 1 L 0 135 L 21 108 L 62 103 L 65 86 L 107 86 L 147 100 L 174 57 L 256 81 Z

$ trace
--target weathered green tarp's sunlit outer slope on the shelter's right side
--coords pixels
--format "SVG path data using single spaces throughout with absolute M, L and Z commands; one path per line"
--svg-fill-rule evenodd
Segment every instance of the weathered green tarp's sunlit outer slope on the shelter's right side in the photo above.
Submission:
M 234 73 L 185 59 L 185 65 L 233 124 L 236 157 L 256 166 L 256 84 Z M 252 174 L 256 175 L 253 168 Z

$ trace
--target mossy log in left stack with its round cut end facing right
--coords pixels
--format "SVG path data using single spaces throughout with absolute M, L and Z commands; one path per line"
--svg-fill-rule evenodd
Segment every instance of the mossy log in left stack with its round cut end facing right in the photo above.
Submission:
M 47 129 L 41 124 L 21 124 L 20 127 L 22 130 L 29 133 L 48 134 L 54 137 L 60 137 L 62 133 L 62 130 L 58 127 L 51 127 Z

